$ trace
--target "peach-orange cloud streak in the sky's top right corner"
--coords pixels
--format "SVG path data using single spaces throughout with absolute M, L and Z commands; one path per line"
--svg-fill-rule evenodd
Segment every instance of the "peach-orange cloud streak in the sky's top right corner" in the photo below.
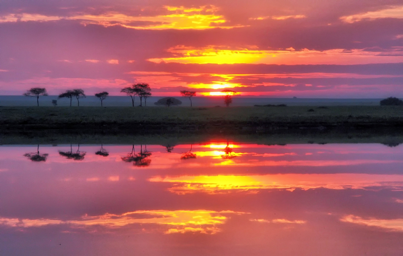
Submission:
M 354 23 L 366 19 L 374 20 L 384 18 L 403 19 L 403 6 L 395 6 L 393 8 L 340 17 L 342 21 L 347 23 Z

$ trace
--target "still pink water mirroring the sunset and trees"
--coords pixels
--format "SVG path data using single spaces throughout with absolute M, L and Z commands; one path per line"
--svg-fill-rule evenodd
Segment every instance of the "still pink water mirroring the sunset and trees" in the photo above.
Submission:
M 403 145 L 1 146 L 0 255 L 403 255 Z

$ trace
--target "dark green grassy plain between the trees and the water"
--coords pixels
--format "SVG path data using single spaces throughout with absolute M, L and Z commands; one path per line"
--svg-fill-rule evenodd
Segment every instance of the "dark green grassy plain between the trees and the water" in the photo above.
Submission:
M 1 133 L 265 133 L 345 127 L 403 127 L 403 107 L 0 107 Z

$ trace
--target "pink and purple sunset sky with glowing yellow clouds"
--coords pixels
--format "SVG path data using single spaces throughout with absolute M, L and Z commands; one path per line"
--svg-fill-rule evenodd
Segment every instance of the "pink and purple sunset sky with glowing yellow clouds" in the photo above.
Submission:
M 0 94 L 403 97 L 401 0 L 0 0 Z

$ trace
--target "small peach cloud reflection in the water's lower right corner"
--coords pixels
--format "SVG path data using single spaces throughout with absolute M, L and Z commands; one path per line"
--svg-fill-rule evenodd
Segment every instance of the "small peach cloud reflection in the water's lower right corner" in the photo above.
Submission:
M 403 219 L 363 219 L 359 216 L 348 215 L 340 219 L 340 221 L 403 232 Z

